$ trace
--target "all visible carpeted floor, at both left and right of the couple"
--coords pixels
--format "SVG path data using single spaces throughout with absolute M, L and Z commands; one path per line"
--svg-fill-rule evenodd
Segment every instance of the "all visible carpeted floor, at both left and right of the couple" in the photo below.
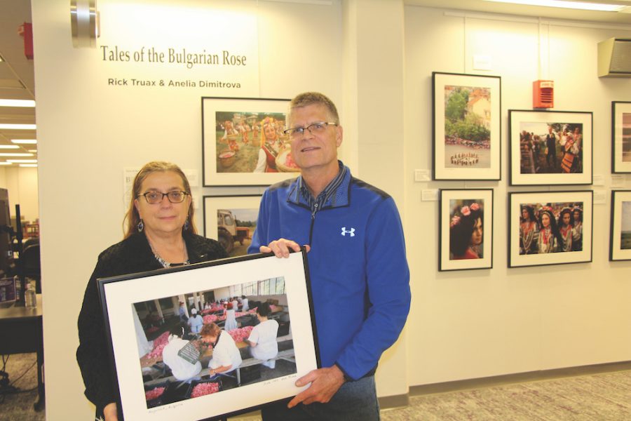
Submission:
M 5 370 L 21 393 L 0 394 L 0 421 L 45 420 L 45 411 L 33 409 L 35 361 L 35 354 L 9 356 Z M 406 408 L 382 410 L 381 420 L 627 421 L 631 420 L 631 370 L 411 396 L 409 403 Z M 230 420 L 260 421 L 259 414 Z

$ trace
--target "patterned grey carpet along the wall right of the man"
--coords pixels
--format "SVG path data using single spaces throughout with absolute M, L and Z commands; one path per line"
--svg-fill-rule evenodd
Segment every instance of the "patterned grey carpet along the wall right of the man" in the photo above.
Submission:
M 407 408 L 382 410 L 381 420 L 626 421 L 631 371 L 413 396 Z

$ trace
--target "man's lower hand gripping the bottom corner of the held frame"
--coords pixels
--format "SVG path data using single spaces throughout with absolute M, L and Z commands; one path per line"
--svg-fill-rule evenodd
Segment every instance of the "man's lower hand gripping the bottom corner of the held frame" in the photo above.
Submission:
M 344 373 L 338 366 L 318 368 L 318 370 L 311 370 L 307 375 L 300 377 L 296 381 L 296 386 L 303 387 L 308 383 L 311 383 L 311 386 L 297 394 L 287 404 L 287 408 L 293 408 L 301 402 L 305 405 L 313 402 L 327 403 L 341 385 L 344 385 Z

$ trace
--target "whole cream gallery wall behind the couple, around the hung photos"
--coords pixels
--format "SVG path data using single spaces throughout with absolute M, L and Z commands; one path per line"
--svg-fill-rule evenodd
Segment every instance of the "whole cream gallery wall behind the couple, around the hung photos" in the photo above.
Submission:
M 402 340 L 381 361 L 379 396 L 405 395 L 409 386 L 435 382 L 631 360 L 631 264 L 607 261 L 609 110 L 611 100 L 631 100 L 625 98 L 631 79 L 595 74 L 597 42 L 628 38 L 631 27 L 465 17 L 391 0 L 100 0 L 98 6 L 103 34 L 97 44 L 116 39 L 166 48 L 175 39 L 203 45 L 204 29 L 182 13 L 254 17 L 257 83 L 227 93 L 108 86 L 109 75 L 123 68 L 139 78 L 165 69 L 120 67 L 102 62 L 98 48 L 73 48 L 68 2 L 32 0 L 48 419 L 93 413 L 74 356 L 76 317 L 98 253 L 122 237 L 123 170 L 154 159 L 174 161 L 196 171 L 197 203 L 226 190 L 201 187 L 201 96 L 330 95 L 345 126 L 342 158 L 356 176 L 398 203 L 412 311 Z M 168 25 L 156 22 L 164 34 L 145 39 L 130 22 L 136 8 L 154 6 L 171 8 L 173 18 Z M 152 29 L 150 18 L 142 25 Z M 225 36 L 240 31 L 231 28 Z M 550 65 L 543 60 L 541 71 L 538 57 L 548 55 L 538 45 L 553 58 Z M 492 70 L 474 71 L 474 54 L 490 56 Z M 414 182 L 414 170 L 431 168 L 433 71 L 502 77 L 501 181 Z M 191 76 L 186 67 L 169 68 L 168 74 Z M 507 110 L 531 108 L 531 83 L 546 78 L 555 80 L 555 109 L 594 112 L 594 173 L 603 175 L 604 185 L 593 189 L 606 191 L 607 203 L 594 208 L 592 263 L 507 269 L 507 192 L 533 190 L 508 187 Z M 495 192 L 494 267 L 439 273 L 437 202 L 422 201 L 421 194 L 477 187 Z M 60 201 L 60 188 L 74 194 Z M 201 228 L 201 208 L 196 212 Z

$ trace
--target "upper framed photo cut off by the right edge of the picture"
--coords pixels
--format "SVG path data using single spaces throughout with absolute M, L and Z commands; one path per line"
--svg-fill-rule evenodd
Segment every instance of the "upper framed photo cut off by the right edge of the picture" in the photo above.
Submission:
M 611 102 L 611 172 L 631 173 L 631 102 Z

